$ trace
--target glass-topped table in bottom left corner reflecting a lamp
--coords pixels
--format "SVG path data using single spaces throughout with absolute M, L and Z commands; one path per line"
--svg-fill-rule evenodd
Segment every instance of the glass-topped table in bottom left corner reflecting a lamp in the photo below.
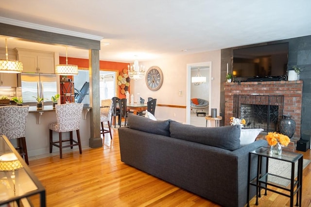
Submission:
M 45 207 L 45 189 L 6 136 L 0 136 L 0 207 Z

